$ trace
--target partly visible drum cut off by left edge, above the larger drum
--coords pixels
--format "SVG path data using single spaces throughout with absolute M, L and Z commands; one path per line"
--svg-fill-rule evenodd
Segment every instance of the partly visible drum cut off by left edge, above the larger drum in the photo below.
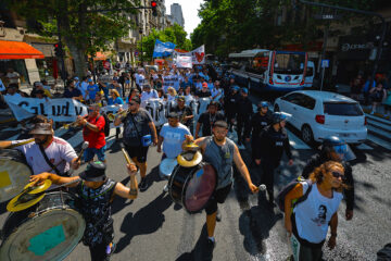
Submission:
M 20 194 L 31 174 L 23 152 L 15 149 L 0 150 L 0 202 Z

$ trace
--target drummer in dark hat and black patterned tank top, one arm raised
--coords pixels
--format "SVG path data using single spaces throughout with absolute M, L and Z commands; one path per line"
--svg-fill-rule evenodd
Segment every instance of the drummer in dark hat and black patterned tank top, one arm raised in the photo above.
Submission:
M 89 163 L 86 171 L 81 172 L 79 176 L 61 177 L 51 173 L 42 173 L 30 177 L 30 182 L 41 183 L 50 179 L 56 185 L 74 182 L 67 187 L 76 187 L 80 203 L 79 209 L 86 220 L 83 244 L 89 247 L 92 261 L 109 260 L 110 254 L 115 250 L 113 219 L 111 216 L 113 196 L 136 199 L 138 191 L 136 165 L 127 165 L 130 188 L 106 177 L 105 169 L 103 162 L 94 161 Z M 77 182 L 78 178 L 81 181 Z

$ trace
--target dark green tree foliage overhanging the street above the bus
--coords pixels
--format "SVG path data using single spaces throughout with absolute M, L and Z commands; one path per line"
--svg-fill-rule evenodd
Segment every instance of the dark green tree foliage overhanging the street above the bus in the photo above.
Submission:
M 314 14 L 321 12 L 319 8 L 300 3 L 294 7 L 292 1 L 205 0 L 199 10 L 201 24 L 190 37 L 192 45 L 204 44 L 207 53 L 219 57 L 244 49 L 278 49 L 287 44 L 303 44 L 305 48 L 310 42 L 321 38 L 323 26 L 327 22 L 314 18 Z M 320 2 L 368 10 L 374 1 L 324 0 Z M 341 22 L 346 23 L 352 15 L 352 13 L 343 13 L 344 20 Z

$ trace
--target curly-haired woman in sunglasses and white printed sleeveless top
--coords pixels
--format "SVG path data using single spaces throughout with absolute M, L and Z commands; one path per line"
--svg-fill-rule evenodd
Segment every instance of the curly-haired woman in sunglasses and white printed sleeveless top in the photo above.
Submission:
M 290 236 L 294 260 L 320 261 L 321 247 L 330 225 L 328 247 L 336 247 L 338 208 L 343 198 L 344 169 L 341 163 L 328 161 L 316 167 L 310 182 L 297 184 L 285 197 L 285 226 Z M 300 199 L 310 189 L 305 200 Z M 292 210 L 293 207 L 293 210 Z

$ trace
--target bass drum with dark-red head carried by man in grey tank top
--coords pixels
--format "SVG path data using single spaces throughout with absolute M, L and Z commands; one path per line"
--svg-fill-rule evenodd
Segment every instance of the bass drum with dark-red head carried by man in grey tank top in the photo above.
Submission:
M 216 184 L 216 171 L 211 164 L 201 162 L 192 167 L 178 164 L 168 178 L 168 194 L 189 213 L 197 213 L 205 208 Z

